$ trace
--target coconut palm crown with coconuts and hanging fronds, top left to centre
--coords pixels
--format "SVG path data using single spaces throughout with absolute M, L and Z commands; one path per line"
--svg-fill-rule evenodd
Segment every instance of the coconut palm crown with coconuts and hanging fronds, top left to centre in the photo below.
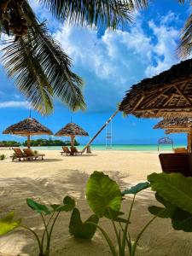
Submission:
M 147 6 L 147 0 L 39 0 L 59 20 L 115 29 L 131 21 L 131 12 Z M 53 97 L 73 111 L 84 109 L 83 80 L 72 72 L 72 60 L 49 35 L 26 0 L 0 1 L 3 66 L 15 80 L 32 108 L 42 114 L 53 111 Z M 4 36 L 6 35 L 6 37 Z

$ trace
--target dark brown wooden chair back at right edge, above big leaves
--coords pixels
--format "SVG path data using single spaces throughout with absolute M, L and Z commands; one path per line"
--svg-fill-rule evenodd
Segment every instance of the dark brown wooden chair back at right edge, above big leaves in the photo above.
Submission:
M 180 172 L 183 176 L 192 177 L 192 154 L 160 154 L 160 166 L 163 172 Z

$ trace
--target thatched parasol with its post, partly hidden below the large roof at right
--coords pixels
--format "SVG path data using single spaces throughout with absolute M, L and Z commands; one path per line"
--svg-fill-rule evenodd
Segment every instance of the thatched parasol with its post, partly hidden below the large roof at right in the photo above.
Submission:
M 192 145 L 192 118 L 172 118 L 163 119 L 157 125 L 154 125 L 154 129 L 166 129 L 166 134 L 170 133 L 187 133 L 188 136 L 188 151 L 191 152 Z

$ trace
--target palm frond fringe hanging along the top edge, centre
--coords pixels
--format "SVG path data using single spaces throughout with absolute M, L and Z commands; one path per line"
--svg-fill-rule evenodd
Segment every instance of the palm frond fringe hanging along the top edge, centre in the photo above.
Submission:
M 134 9 L 146 8 L 148 0 L 40 0 L 55 17 L 71 24 L 108 26 L 132 20 Z

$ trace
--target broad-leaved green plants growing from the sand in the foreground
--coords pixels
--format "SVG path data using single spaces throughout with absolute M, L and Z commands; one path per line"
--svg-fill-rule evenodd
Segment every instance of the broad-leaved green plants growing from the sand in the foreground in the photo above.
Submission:
M 131 238 L 130 225 L 131 214 L 136 200 L 136 195 L 143 189 L 151 187 L 156 194 L 155 198 L 163 207 L 151 206 L 148 211 L 154 215 L 141 230 L 138 231 L 134 241 Z M 49 256 L 52 232 L 58 216 L 61 212 L 72 212 L 69 222 L 69 234 L 84 239 L 91 239 L 96 230 L 102 232 L 102 236 L 110 248 L 113 256 L 135 256 L 138 242 L 143 232 L 152 224 L 155 218 L 171 218 L 172 227 L 175 230 L 192 232 L 192 177 L 183 177 L 182 174 L 153 173 L 148 176 L 148 182 L 138 183 L 136 186 L 120 191 L 119 185 L 103 172 L 93 172 L 86 186 L 86 200 L 93 214 L 84 222 L 80 211 L 75 207 L 75 201 L 66 196 L 61 205 L 50 205 L 49 207 L 39 204 L 32 199 L 26 199 L 26 203 L 33 211 L 39 213 L 42 218 L 44 230 L 42 235 L 31 228 L 21 224 L 21 220 L 14 220 L 14 212 L 0 219 L 0 236 L 14 230 L 17 227 L 25 228 L 32 232 L 38 242 L 38 256 Z M 122 200 L 131 201 L 128 211 L 120 212 Z M 49 216 L 45 221 L 44 216 Z M 100 218 L 107 218 L 113 226 L 116 244 L 111 240 L 107 231 L 99 224 Z M 61 238 L 62 239 L 62 238 Z M 75 244 L 74 244 L 75 245 Z M 85 245 L 84 245 L 85 246 Z

